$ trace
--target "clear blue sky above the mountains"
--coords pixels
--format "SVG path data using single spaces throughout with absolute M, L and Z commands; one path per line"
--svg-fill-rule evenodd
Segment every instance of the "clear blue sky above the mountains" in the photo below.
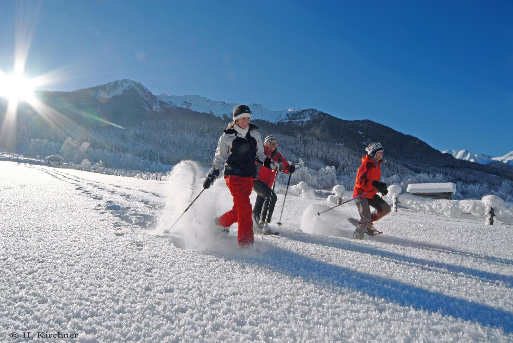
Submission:
M 511 2 L 0 6 L 0 69 L 12 69 L 16 25 L 24 27 L 33 32 L 26 73 L 58 76 L 44 89 L 129 78 L 154 94 L 370 119 L 437 149 L 513 150 Z

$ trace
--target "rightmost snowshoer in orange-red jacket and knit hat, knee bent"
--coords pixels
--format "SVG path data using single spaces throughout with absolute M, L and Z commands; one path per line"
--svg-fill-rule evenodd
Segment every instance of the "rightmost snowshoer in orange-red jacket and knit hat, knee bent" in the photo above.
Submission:
M 358 168 L 356 184 L 354 185 L 353 191 L 353 197 L 364 194 L 354 200 L 361 217 L 353 233 L 353 237 L 357 240 L 363 240 L 365 232 L 369 235 L 377 234 L 379 231 L 374 230 L 372 222 L 390 213 L 390 205 L 376 194 L 378 191 L 382 196 L 388 193 L 386 183 L 380 182 L 383 146 L 380 142 L 370 143 L 365 148 L 365 151 L 367 151 L 367 155 L 362 158 L 362 165 Z M 376 210 L 371 213 L 369 206 L 372 206 Z

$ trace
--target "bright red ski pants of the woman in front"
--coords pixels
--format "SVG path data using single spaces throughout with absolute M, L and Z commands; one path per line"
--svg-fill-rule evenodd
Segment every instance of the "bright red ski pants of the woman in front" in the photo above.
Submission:
M 241 176 L 225 176 L 226 185 L 233 196 L 233 207 L 219 218 L 218 223 L 223 227 L 229 227 L 237 222 L 239 224 L 237 241 L 239 246 L 253 244 L 253 222 L 251 220 L 251 202 L 249 195 L 253 187 L 253 178 L 243 178 Z

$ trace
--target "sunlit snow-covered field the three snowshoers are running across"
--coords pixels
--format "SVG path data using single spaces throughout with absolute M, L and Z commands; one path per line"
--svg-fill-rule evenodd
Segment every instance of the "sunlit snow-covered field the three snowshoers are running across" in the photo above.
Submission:
M 0 161 L 2 340 L 513 341 L 511 225 L 400 208 L 355 241 L 352 203 L 317 216 L 325 199 L 289 192 L 281 234 L 239 250 L 213 225 L 232 204 L 219 179 L 163 235 L 201 177 Z

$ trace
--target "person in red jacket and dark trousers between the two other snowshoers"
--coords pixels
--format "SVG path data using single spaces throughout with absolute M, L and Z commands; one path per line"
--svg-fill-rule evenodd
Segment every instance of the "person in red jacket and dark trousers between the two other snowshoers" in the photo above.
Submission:
M 274 136 L 267 136 L 264 140 L 265 156 L 273 162 L 280 163 L 279 170 L 282 170 L 283 173 L 294 173 L 295 166 L 290 165 L 283 155 L 277 151 L 277 144 L 278 141 Z M 267 223 L 271 222 L 272 212 L 277 200 L 276 194 L 272 191 L 272 184 L 277 175 L 277 170 L 260 165 L 258 178 L 253 181 L 253 190 L 257 193 L 257 201 L 253 206 L 253 231 L 262 232 L 266 216 Z M 269 208 L 269 215 L 267 215 L 267 208 Z M 265 231 L 264 234 L 272 233 L 268 227 Z

